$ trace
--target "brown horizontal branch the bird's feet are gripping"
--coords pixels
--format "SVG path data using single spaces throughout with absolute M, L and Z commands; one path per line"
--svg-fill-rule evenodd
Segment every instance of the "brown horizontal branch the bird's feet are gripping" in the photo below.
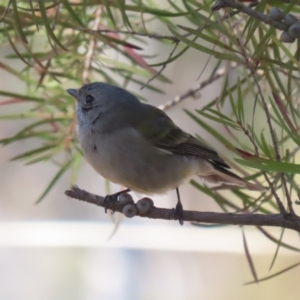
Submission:
M 123 206 L 118 201 L 107 201 L 104 204 L 104 197 L 91 194 L 85 190 L 72 186 L 65 194 L 71 198 L 92 203 L 97 206 L 110 209 L 113 212 L 122 213 Z M 147 215 L 138 215 L 139 217 L 161 220 L 176 220 L 174 218 L 174 209 L 152 207 Z M 183 212 L 183 221 L 201 222 L 212 224 L 229 224 L 229 225 L 254 225 L 254 226 L 273 226 L 289 228 L 300 232 L 300 218 L 296 215 L 285 214 L 233 214 L 233 213 L 215 213 L 215 212 Z

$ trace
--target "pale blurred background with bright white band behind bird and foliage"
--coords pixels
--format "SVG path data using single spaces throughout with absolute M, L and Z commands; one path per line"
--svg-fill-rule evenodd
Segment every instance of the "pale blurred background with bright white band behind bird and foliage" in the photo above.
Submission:
M 161 57 L 168 55 L 155 41 L 148 51 L 160 53 Z M 2 48 L 1 61 L 21 69 L 17 60 L 5 58 L 9 53 L 9 47 Z M 207 57 L 201 59 L 199 52 L 189 50 L 165 69 L 164 75 L 173 82 L 158 83 L 165 95 L 158 96 L 148 90 L 137 92 L 152 105 L 164 104 L 193 88 L 206 62 Z M 199 81 L 210 74 L 208 65 Z M 23 83 L 5 71 L 0 70 L 0 78 L 1 90 L 25 92 Z M 224 152 L 183 111 L 184 107 L 200 108 L 218 96 L 221 84 L 222 81 L 216 81 L 201 91 L 199 97 L 186 99 L 167 114 L 182 129 L 201 135 L 216 150 Z M 133 85 L 134 89 L 137 87 Z M 1 107 L 1 114 L 28 109 L 28 104 L 6 105 Z M 0 122 L 0 139 L 27 124 L 26 120 Z M 112 217 L 103 209 L 64 195 L 70 186 L 68 173 L 36 205 L 57 167 L 51 162 L 24 166 L 19 161 L 9 161 L 32 149 L 34 143 L 35 140 L 28 139 L 0 148 L 0 299 L 297 299 L 299 268 L 260 284 L 244 285 L 253 276 L 238 227 L 200 228 L 187 222 L 181 227 L 175 221 L 122 219 L 115 214 L 114 221 L 121 222 L 115 231 Z M 104 180 L 84 159 L 76 184 L 92 193 L 105 194 Z M 111 185 L 111 190 L 116 192 L 119 187 Z M 211 199 L 189 183 L 180 191 L 185 209 L 219 211 Z M 138 199 L 140 195 L 134 197 Z M 171 208 L 175 206 L 176 193 L 153 200 L 158 207 Z M 281 230 L 270 229 L 270 232 L 279 238 Z M 298 262 L 296 252 L 280 249 L 270 273 L 276 245 L 254 228 L 245 228 L 245 234 L 259 278 Z M 288 232 L 285 238 L 299 240 L 293 232 Z

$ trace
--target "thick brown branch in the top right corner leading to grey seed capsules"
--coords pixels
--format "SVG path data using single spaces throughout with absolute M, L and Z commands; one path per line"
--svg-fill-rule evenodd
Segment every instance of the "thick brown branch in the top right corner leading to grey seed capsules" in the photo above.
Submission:
M 217 0 L 215 2 L 215 4 L 212 6 L 212 10 L 219 10 L 221 8 L 226 8 L 226 7 L 230 7 L 230 8 L 235 8 L 240 12 L 243 12 L 245 14 L 247 14 L 248 16 L 254 17 L 266 24 L 269 24 L 279 30 L 282 31 L 288 31 L 289 26 L 286 25 L 283 22 L 280 21 L 275 21 L 272 18 L 270 18 L 268 15 L 265 15 L 257 10 L 252 9 L 249 6 L 245 6 L 244 4 L 237 2 L 235 0 Z

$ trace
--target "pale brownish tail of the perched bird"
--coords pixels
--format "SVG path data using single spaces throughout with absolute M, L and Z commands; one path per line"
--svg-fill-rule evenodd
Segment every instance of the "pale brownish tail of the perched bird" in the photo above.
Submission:
M 243 188 L 246 188 L 251 191 L 261 191 L 264 192 L 266 189 L 259 185 L 259 184 L 254 184 L 247 182 L 243 178 L 239 177 L 238 175 L 230 172 L 229 170 L 225 169 L 222 166 L 213 164 L 214 167 L 214 173 L 210 175 L 201 175 L 201 177 L 211 183 L 225 183 L 228 185 L 233 185 L 233 186 L 240 186 Z

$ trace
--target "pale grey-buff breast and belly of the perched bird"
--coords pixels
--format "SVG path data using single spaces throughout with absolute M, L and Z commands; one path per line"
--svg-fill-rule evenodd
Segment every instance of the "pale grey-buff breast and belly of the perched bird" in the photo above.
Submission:
M 78 132 L 84 155 L 104 178 L 145 194 L 162 194 L 197 173 L 194 159 L 154 147 L 132 128 Z

